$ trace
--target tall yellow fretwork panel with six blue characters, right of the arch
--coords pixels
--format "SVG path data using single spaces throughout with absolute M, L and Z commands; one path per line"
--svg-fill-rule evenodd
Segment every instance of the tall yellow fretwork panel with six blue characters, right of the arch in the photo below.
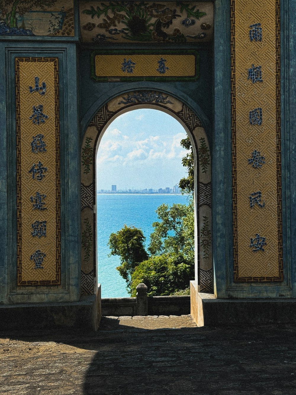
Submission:
M 279 0 L 231 0 L 234 281 L 283 280 Z

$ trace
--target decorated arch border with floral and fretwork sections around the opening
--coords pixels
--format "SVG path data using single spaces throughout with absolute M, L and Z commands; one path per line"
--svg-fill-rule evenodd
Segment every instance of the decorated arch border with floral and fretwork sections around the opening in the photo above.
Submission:
M 180 100 L 155 90 L 121 94 L 103 105 L 92 118 L 81 147 L 81 294 L 92 295 L 97 288 L 96 265 L 96 147 L 106 124 L 123 109 L 153 105 L 166 109 L 181 120 L 191 134 L 199 164 L 197 190 L 197 265 L 200 292 L 213 291 L 212 270 L 212 186 L 208 139 L 195 113 Z

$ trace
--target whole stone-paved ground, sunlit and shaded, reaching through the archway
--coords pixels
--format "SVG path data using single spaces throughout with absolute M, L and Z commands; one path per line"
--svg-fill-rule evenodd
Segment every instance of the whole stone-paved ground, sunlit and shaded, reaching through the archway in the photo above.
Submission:
M 0 393 L 295 395 L 296 327 L 160 316 L 104 317 L 89 333 L 0 332 Z

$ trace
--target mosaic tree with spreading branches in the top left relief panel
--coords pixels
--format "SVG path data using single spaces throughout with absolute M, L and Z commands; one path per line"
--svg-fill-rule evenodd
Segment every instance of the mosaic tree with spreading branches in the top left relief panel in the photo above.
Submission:
M 44 10 L 54 3 L 56 0 L 0 0 L 0 10 L 3 17 L 6 15 L 5 23 L 9 27 L 17 27 L 17 13 L 24 15 L 32 8 Z

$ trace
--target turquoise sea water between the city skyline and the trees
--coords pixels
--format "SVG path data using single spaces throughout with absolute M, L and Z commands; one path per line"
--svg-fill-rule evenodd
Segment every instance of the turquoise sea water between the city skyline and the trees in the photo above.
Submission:
M 101 283 L 102 297 L 128 297 L 126 282 L 120 277 L 116 266 L 118 256 L 108 258 L 109 235 L 127 226 L 141 228 L 146 236 L 146 246 L 152 233 L 152 222 L 157 221 L 155 210 L 162 203 L 187 204 L 187 196 L 174 194 L 97 194 L 97 260 L 98 282 Z

